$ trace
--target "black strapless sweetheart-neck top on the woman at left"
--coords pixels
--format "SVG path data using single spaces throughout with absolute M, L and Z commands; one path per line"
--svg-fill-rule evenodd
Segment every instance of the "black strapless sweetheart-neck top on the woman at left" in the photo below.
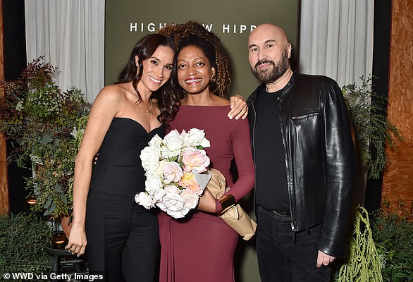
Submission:
M 145 176 L 139 156 L 156 134 L 163 138 L 165 128 L 161 125 L 147 133 L 131 118 L 113 118 L 99 149 L 90 189 L 125 197 L 144 191 Z

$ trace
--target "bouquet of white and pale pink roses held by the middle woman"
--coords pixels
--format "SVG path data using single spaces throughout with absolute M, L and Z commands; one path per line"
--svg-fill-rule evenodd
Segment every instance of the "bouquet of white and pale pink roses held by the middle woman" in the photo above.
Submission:
M 197 128 L 172 130 L 163 140 L 152 137 L 140 154 L 147 180 L 145 192 L 137 193 L 135 202 L 147 209 L 157 206 L 175 219 L 195 209 L 211 178 L 205 147 L 210 147 L 209 140 Z

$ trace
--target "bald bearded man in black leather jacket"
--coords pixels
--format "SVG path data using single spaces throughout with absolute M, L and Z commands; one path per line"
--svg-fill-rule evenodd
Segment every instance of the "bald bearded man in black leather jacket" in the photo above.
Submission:
M 330 281 L 329 264 L 345 255 L 357 167 L 340 87 L 292 71 L 281 27 L 257 26 L 248 50 L 261 82 L 247 100 L 261 281 Z

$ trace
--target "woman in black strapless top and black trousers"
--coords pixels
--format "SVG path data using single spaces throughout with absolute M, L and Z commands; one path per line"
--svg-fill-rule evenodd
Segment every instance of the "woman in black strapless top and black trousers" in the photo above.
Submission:
M 90 273 L 104 274 L 105 281 L 156 277 L 158 221 L 134 196 L 144 191 L 140 151 L 154 135 L 164 136 L 177 109 L 177 99 L 167 91 L 173 56 L 173 41 L 164 35 L 137 42 L 119 82 L 95 99 L 76 157 L 67 249 L 82 255 L 86 248 Z

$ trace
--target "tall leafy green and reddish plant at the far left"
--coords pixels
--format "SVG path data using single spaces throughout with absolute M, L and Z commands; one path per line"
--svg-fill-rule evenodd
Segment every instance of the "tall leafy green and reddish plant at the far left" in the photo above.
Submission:
M 0 102 L 0 132 L 13 149 L 8 161 L 32 166 L 25 179 L 32 207 L 56 219 L 69 215 L 73 201 L 75 156 L 90 111 L 80 90 L 61 91 L 54 82 L 58 68 L 39 57 L 29 63 L 20 80 L 4 82 Z

